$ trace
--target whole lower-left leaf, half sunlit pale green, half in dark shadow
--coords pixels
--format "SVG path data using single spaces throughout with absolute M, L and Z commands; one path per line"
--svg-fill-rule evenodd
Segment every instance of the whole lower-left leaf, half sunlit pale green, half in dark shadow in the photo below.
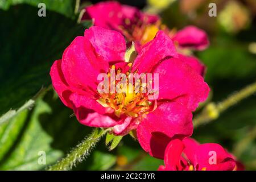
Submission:
M 34 109 L 23 110 L 0 126 L 0 169 L 44 169 L 67 154 L 90 132 L 70 118 L 72 110 L 48 92 L 39 97 Z M 97 137 L 98 133 L 93 135 Z M 40 151 L 46 152 L 46 165 L 38 163 Z

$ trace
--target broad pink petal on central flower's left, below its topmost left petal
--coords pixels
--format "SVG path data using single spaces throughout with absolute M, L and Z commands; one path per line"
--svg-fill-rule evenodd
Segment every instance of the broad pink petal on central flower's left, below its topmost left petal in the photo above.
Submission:
M 97 57 L 92 44 L 83 36 L 78 36 L 65 49 L 61 70 L 70 86 L 86 91 L 97 90 L 97 76 L 107 72 L 108 62 Z

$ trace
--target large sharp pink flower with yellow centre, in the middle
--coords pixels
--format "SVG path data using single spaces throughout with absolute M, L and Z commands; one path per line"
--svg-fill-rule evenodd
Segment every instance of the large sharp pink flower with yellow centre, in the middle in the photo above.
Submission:
M 142 47 L 133 63 L 125 62 L 125 51 L 119 32 L 90 27 L 53 63 L 53 88 L 83 125 L 111 127 L 115 135 L 137 129 L 144 150 L 163 158 L 170 138 L 192 134 L 192 111 L 207 98 L 209 87 L 163 31 Z M 149 99 L 148 93 L 99 93 L 97 76 L 110 69 L 127 76 L 158 73 L 158 99 Z

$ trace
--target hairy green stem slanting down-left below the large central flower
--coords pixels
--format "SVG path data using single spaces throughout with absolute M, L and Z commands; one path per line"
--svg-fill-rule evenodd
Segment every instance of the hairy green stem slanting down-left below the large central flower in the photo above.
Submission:
M 82 162 L 90 154 L 90 151 L 96 146 L 108 130 L 94 129 L 92 134 L 86 137 L 69 154 L 48 168 L 48 171 L 70 170 L 77 163 Z

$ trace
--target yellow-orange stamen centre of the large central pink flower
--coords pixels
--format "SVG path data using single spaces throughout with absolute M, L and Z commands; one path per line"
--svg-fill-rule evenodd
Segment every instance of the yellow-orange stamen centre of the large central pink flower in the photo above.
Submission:
M 131 67 L 131 63 L 127 63 Z M 112 65 L 110 69 L 114 69 L 115 76 L 122 73 L 120 68 L 115 69 Z M 156 106 L 154 101 L 149 101 L 148 96 L 150 94 L 142 92 L 146 85 L 142 84 L 143 75 L 134 84 L 129 82 L 130 77 L 133 76 L 130 71 L 125 73 L 127 79 L 124 81 L 122 78 L 120 80 L 114 80 L 110 82 L 110 72 L 108 72 L 109 85 L 112 85 L 115 89 L 120 89 L 122 92 L 111 93 L 110 89 L 108 93 L 100 93 L 100 99 L 97 101 L 104 107 L 110 107 L 114 109 L 114 114 L 117 117 L 121 117 L 122 114 L 126 114 L 129 117 L 145 117 L 150 111 L 154 110 Z M 146 76 L 146 75 L 144 75 Z M 134 78 L 133 78 L 134 80 Z M 126 86 L 125 86 L 126 85 Z M 136 92 L 139 90 L 139 92 Z

